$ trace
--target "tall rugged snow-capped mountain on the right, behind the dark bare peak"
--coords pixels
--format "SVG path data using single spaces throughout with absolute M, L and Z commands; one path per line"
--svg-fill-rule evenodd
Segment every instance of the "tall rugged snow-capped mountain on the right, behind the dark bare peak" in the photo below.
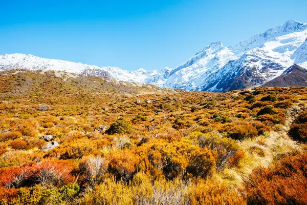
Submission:
M 259 86 L 298 64 L 307 68 L 307 24 L 288 20 L 232 47 L 215 42 L 173 69 L 163 86 L 229 91 Z

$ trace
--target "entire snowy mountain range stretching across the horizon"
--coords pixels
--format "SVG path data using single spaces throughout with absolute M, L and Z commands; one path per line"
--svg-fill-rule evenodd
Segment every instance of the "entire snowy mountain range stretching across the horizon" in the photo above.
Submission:
M 128 72 L 118 67 L 91 66 L 31 54 L 0 55 L 0 71 L 66 71 L 159 87 L 211 92 L 261 85 L 307 86 L 304 80 L 307 79 L 306 68 L 307 24 L 295 20 L 288 20 L 235 46 L 211 43 L 177 68 Z M 295 76 L 301 77 L 299 83 Z

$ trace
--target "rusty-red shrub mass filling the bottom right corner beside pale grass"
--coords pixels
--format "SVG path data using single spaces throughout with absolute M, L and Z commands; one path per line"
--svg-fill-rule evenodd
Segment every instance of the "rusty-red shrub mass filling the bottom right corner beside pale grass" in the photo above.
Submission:
M 307 204 L 307 154 L 258 168 L 246 183 L 249 204 Z

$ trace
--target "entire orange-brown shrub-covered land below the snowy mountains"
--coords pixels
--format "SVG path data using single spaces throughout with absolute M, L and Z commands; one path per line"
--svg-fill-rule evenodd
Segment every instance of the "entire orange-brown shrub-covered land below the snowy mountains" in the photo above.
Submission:
M 307 203 L 307 88 L 1 79 L 0 204 Z

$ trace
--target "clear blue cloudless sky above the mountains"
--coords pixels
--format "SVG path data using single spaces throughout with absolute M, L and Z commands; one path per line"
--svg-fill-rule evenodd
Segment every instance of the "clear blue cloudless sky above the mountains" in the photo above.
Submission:
M 176 67 L 211 42 L 226 46 L 288 19 L 307 1 L 0 1 L 0 53 L 126 70 Z

